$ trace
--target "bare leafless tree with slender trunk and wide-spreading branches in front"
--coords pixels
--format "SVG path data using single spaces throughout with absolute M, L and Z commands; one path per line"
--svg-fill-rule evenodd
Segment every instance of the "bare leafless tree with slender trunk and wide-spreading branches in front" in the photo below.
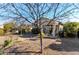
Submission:
M 13 19 L 25 19 L 25 21 L 32 24 L 32 22 L 37 21 L 37 27 L 40 28 L 40 45 L 42 52 L 42 23 L 41 17 L 45 15 L 52 14 L 52 20 L 62 20 L 64 18 L 69 18 L 72 15 L 72 11 L 76 7 L 72 7 L 73 4 L 62 4 L 62 3 L 21 3 L 21 4 L 8 4 L 4 9 L 8 15 L 2 14 L 0 16 L 5 16 Z M 21 20 L 22 20 L 21 19 Z M 49 23 L 51 23 L 51 21 Z M 48 23 L 48 24 L 49 24 Z M 54 29 L 55 30 L 55 29 Z M 55 31 L 53 31 L 55 32 Z

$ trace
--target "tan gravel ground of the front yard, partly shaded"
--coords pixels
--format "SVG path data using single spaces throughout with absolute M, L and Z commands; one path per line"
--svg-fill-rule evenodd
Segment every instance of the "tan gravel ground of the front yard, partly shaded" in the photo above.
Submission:
M 63 39 L 43 39 L 43 52 L 40 53 L 39 38 L 26 38 L 12 36 L 1 36 L 0 44 L 6 39 L 13 38 L 14 44 L 4 50 L 4 54 L 8 55 L 78 55 L 79 39 L 63 38 Z M 18 39 L 17 39 L 18 38 Z

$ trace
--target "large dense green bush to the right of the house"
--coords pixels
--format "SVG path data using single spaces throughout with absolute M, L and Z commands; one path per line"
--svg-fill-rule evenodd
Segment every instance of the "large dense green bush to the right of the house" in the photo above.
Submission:
M 65 36 L 66 37 L 75 37 L 78 27 L 79 27 L 78 22 L 66 22 L 64 24 Z

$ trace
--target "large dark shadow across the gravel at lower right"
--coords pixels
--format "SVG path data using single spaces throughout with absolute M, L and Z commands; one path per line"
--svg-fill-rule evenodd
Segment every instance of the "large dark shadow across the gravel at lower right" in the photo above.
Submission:
M 61 39 L 61 44 L 52 43 L 46 48 L 50 48 L 52 50 L 57 50 L 57 51 L 69 51 L 69 52 L 77 51 L 79 52 L 79 40 Z

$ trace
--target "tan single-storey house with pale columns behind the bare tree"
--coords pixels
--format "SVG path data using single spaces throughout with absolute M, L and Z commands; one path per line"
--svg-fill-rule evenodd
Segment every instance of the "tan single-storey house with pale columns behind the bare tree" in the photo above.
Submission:
M 63 24 L 59 21 L 42 17 L 39 22 L 42 26 L 42 31 L 47 35 L 52 35 L 52 37 L 57 37 L 59 31 L 63 31 Z M 37 21 L 34 22 L 34 26 L 38 24 Z

